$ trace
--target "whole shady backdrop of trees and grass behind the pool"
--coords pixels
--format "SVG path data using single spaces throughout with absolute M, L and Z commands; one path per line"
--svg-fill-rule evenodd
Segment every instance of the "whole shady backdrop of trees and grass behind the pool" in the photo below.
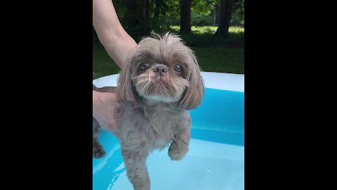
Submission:
M 180 34 L 202 71 L 244 74 L 244 0 L 114 0 L 138 43 L 153 30 Z M 119 72 L 93 29 L 93 79 Z

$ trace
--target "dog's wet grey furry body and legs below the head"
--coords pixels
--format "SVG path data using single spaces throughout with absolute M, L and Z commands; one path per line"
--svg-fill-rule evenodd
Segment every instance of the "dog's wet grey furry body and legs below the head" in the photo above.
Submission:
M 96 88 L 96 91 L 105 91 Z M 111 87 L 113 89 L 113 87 Z M 147 174 L 146 158 L 151 151 L 169 147 L 171 160 L 182 159 L 188 151 L 190 142 L 191 120 L 187 110 L 176 103 L 155 103 L 138 105 L 137 108 L 127 104 L 117 108 L 119 140 L 122 155 L 128 170 L 128 177 L 135 189 L 150 189 L 150 178 Z M 168 118 L 171 118 L 168 120 Z M 93 156 L 105 155 L 103 146 L 98 142 L 100 125 L 93 118 Z M 137 186 L 135 186 L 135 184 Z M 138 185 L 139 184 L 139 185 Z

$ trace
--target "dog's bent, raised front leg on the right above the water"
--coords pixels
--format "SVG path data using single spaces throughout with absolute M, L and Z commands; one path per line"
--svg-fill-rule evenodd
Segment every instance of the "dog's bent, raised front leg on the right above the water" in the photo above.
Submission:
M 171 160 L 181 160 L 188 151 L 191 139 L 191 120 L 188 118 L 182 126 L 176 129 L 176 134 L 169 147 L 169 157 Z

